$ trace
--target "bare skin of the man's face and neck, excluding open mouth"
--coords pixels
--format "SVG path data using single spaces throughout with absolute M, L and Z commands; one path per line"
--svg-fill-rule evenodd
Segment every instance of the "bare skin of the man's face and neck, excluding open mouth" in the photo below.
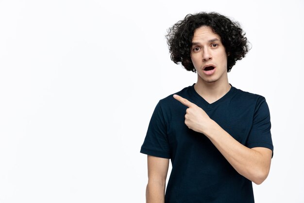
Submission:
M 213 103 L 230 90 L 225 47 L 220 36 L 210 27 L 203 26 L 195 30 L 190 56 L 198 76 L 194 89 L 207 102 Z M 208 64 L 216 67 L 212 75 L 203 73 L 204 65 Z

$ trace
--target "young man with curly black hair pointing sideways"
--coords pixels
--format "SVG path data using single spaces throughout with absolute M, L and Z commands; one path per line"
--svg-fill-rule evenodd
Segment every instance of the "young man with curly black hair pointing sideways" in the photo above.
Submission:
M 244 35 L 218 13 L 187 15 L 169 29 L 171 59 L 198 79 L 152 114 L 140 150 L 148 155 L 147 203 L 254 202 L 252 182 L 267 178 L 273 146 L 265 98 L 228 82 L 248 52 Z

